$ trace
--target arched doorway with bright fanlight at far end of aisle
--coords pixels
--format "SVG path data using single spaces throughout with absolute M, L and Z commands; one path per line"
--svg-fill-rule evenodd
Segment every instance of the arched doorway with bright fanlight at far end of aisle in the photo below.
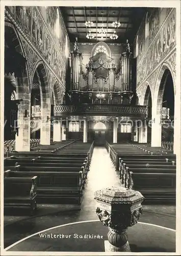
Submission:
M 106 143 L 106 125 L 102 122 L 94 124 L 94 143 L 97 146 L 104 145 Z

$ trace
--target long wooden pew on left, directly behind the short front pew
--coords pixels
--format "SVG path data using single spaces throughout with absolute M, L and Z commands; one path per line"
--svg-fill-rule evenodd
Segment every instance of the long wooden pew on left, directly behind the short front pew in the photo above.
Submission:
M 32 175 L 37 176 L 38 203 L 81 204 L 82 172 L 19 172 L 12 170 L 5 172 L 6 177 L 30 177 Z

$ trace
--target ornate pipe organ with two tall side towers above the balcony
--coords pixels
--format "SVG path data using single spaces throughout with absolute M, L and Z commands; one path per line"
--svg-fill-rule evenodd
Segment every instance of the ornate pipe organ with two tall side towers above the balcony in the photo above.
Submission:
M 132 52 L 128 40 L 120 55 L 120 69 L 106 52 L 96 52 L 89 58 L 86 72 L 82 70 L 82 53 L 77 47 L 71 52 L 70 103 L 130 104 L 132 91 Z M 83 79 L 84 78 L 84 81 Z M 82 89 L 81 81 L 85 83 Z

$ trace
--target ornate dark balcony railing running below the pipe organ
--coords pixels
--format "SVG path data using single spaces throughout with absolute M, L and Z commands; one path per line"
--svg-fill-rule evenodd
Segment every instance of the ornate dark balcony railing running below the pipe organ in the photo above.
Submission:
M 111 105 L 111 104 L 81 104 L 54 105 L 54 116 L 94 115 L 94 116 L 134 116 L 147 117 L 147 106 Z

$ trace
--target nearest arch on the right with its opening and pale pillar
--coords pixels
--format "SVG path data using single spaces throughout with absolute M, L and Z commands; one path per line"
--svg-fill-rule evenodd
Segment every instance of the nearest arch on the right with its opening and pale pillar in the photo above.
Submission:
M 161 146 L 163 140 L 173 140 L 174 132 L 174 81 L 172 70 L 164 63 L 157 77 L 152 104 L 151 146 Z M 170 108 L 172 120 L 164 117 L 163 108 Z M 168 115 L 167 115 L 168 116 Z M 170 121 L 169 121 L 170 120 Z M 172 121 L 172 122 L 171 122 Z M 172 129 L 172 136 L 169 129 Z

